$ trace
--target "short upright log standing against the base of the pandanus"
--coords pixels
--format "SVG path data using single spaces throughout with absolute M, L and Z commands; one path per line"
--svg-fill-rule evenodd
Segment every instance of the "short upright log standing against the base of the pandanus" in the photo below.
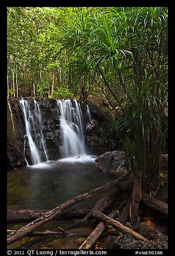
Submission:
M 135 226 L 138 215 L 138 205 L 142 198 L 142 180 L 140 178 L 135 179 L 132 204 L 130 206 L 130 223 Z

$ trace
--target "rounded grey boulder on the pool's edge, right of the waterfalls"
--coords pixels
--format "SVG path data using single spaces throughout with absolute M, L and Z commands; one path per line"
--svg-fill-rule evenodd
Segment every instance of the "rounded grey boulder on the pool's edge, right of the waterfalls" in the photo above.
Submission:
M 97 167 L 107 173 L 126 172 L 125 161 L 120 151 L 107 151 L 95 159 Z

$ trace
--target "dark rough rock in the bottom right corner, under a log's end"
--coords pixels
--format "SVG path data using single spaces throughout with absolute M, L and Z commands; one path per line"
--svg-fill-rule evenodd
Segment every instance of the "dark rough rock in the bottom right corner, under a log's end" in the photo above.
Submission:
M 126 226 L 141 234 L 148 241 L 136 240 L 131 234 L 112 236 L 107 243 L 107 249 L 167 249 L 167 236 L 152 229 L 144 222 L 136 227 L 131 226 L 130 223 L 126 223 Z

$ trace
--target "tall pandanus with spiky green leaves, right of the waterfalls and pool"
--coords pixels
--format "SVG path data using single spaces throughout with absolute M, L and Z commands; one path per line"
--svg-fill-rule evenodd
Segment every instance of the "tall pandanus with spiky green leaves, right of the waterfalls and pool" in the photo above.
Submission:
M 150 193 L 167 137 L 167 8 L 78 9 L 59 41 L 77 91 L 98 87 L 111 105 L 104 134 L 120 138 L 128 171 Z

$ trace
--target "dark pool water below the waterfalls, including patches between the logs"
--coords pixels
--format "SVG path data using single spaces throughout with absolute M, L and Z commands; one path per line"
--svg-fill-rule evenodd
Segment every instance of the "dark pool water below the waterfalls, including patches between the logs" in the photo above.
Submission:
M 85 157 L 76 160 L 50 161 L 36 166 L 19 168 L 8 171 L 8 208 L 20 209 L 53 209 L 60 204 L 86 191 L 115 180 L 116 177 L 100 172 L 95 165 L 94 158 Z M 88 200 L 74 205 L 71 209 L 90 209 L 114 188 L 104 191 Z M 72 221 L 60 221 L 62 227 Z M 9 224 L 9 229 L 18 229 L 23 224 Z M 57 230 L 58 222 L 48 222 L 41 230 Z M 81 229 L 80 229 L 81 230 Z M 93 229 L 84 227 L 81 231 L 90 233 Z M 16 241 L 8 248 L 78 248 L 83 240 L 70 237 L 62 238 L 34 238 L 27 237 Z M 82 238 L 83 239 L 83 238 Z M 70 242 L 74 241 L 74 242 Z

